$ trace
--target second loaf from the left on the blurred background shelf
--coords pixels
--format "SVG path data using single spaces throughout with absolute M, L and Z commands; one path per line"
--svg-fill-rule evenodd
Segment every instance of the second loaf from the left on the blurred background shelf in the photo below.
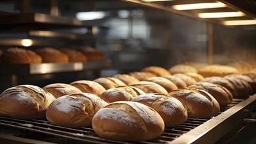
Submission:
M 69 57 L 56 48 L 39 48 L 35 50 L 43 60 L 43 63 L 67 63 Z

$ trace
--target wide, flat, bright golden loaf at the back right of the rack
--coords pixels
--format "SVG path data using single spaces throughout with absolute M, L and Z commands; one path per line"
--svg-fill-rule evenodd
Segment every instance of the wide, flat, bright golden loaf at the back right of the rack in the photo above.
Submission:
M 225 75 L 237 74 L 238 70 L 227 65 L 208 65 L 198 71 L 203 77 L 224 77 Z

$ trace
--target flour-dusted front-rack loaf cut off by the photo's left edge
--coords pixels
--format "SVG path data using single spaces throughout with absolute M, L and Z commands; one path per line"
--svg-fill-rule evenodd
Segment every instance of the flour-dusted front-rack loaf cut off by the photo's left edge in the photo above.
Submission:
M 0 115 L 31 120 L 45 118 L 45 112 L 54 101 L 52 94 L 33 85 L 8 88 L 0 95 Z

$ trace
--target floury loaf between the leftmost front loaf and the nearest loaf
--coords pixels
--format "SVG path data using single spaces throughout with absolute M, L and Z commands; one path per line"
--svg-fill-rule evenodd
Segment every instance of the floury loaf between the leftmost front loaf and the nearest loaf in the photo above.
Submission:
M 46 110 L 46 118 L 51 124 L 69 128 L 91 126 L 95 113 L 107 104 L 94 94 L 70 94 L 53 101 Z

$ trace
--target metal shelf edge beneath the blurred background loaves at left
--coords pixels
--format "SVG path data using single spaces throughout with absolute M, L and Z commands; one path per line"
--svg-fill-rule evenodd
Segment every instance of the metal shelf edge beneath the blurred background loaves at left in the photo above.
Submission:
M 38 64 L 1 64 L 0 74 L 5 75 L 33 75 L 45 73 L 59 73 L 103 69 L 111 66 L 111 60 L 75 63 L 38 63 Z

